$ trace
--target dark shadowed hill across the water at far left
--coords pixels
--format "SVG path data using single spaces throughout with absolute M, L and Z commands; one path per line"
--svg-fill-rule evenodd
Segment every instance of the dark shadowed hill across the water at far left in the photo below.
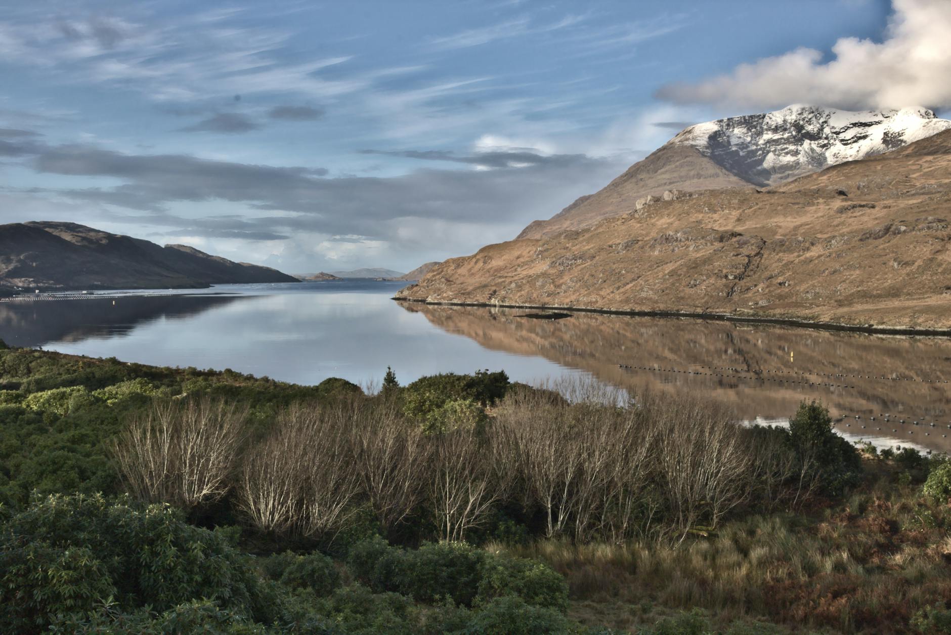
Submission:
M 182 244 L 110 234 L 75 222 L 0 225 L 0 289 L 169 289 L 297 282 L 277 269 Z

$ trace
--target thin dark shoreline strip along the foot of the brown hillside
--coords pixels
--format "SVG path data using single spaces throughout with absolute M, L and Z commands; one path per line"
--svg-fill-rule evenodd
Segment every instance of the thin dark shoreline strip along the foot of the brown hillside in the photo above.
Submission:
M 599 309 L 594 307 L 574 307 L 557 304 L 508 304 L 494 302 L 463 302 L 463 301 L 433 301 L 417 298 L 390 298 L 398 302 L 415 302 L 433 306 L 471 306 L 497 309 L 529 309 L 533 311 L 566 311 L 573 313 L 593 313 L 608 316 L 626 317 L 681 317 L 702 319 L 720 322 L 747 322 L 760 324 L 775 324 L 792 326 L 795 328 L 811 329 L 816 331 L 843 331 L 848 333 L 865 333 L 879 336 L 918 336 L 918 337 L 951 337 L 951 328 L 947 329 L 914 329 L 897 326 L 860 326 L 856 324 L 840 324 L 838 322 L 822 322 L 794 317 L 745 317 L 726 313 L 697 313 L 689 311 L 635 311 L 632 309 Z

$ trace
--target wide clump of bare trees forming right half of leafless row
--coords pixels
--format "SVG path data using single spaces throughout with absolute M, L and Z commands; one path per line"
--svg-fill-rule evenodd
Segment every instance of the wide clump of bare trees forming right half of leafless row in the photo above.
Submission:
M 619 405 L 620 404 L 620 405 Z M 754 434 L 728 411 L 689 397 L 618 394 L 571 402 L 515 391 L 495 413 L 496 456 L 517 473 L 545 534 L 622 542 L 683 540 L 715 528 L 762 489 L 771 504 L 808 471 L 775 434 Z M 765 448 L 767 452 L 761 452 Z M 805 491 L 792 488 L 793 498 Z

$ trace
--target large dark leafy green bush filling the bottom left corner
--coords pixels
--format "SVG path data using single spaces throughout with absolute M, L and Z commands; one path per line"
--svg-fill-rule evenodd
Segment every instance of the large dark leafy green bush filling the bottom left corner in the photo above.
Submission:
M 0 605 L 10 608 L 8 614 L 43 619 L 43 611 L 51 609 L 45 603 L 56 600 L 37 604 L 22 592 L 29 585 L 22 576 L 27 572 L 42 580 L 57 563 L 81 572 L 91 589 L 80 612 L 90 598 L 107 591 L 123 610 L 150 606 L 164 611 L 195 598 L 248 616 L 273 610 L 246 556 L 222 534 L 188 525 L 180 512 L 163 505 L 140 508 L 102 496 L 50 496 L 14 514 L 0 529 L 3 558 L 16 563 L 29 553 L 44 554 L 40 562 L 47 564 L 0 569 Z M 76 554 L 82 559 L 77 561 Z

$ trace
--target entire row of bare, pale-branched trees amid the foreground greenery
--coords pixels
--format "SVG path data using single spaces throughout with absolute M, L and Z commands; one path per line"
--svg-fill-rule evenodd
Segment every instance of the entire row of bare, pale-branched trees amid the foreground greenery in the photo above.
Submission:
M 439 539 L 464 540 L 514 504 L 539 512 L 548 537 L 679 542 L 750 500 L 795 505 L 817 485 L 782 435 L 714 404 L 556 388 L 513 388 L 484 428 L 431 434 L 381 396 L 298 404 L 255 440 L 222 401 L 159 401 L 115 456 L 145 500 L 194 509 L 230 491 L 257 529 L 319 538 L 365 509 L 387 532 L 430 519 Z

